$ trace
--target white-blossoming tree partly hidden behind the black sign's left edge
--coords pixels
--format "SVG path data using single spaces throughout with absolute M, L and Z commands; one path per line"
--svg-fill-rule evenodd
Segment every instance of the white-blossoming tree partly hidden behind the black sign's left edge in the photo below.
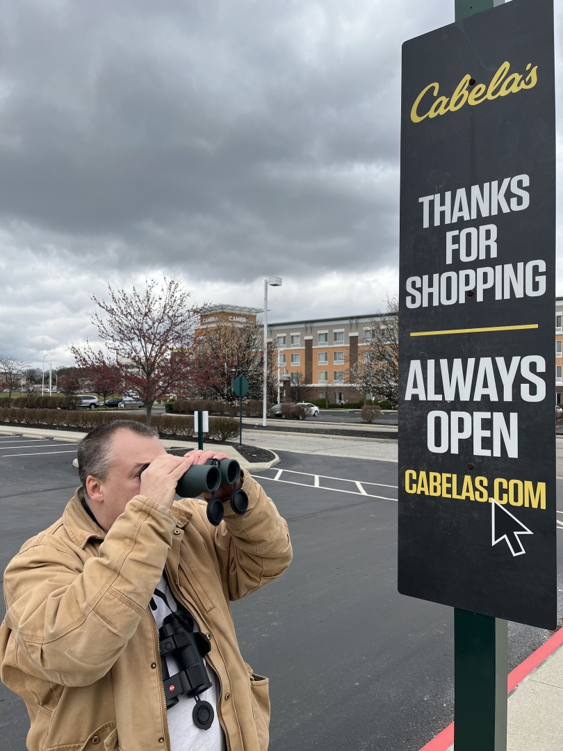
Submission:
M 372 336 L 364 339 L 363 362 L 351 369 L 354 380 L 364 394 L 399 401 L 399 295 L 387 297 L 387 311 L 372 321 Z

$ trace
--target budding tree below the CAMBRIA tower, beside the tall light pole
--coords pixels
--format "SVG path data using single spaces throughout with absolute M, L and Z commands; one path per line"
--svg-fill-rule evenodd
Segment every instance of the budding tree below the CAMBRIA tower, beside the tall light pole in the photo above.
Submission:
M 233 392 L 233 379 L 243 375 L 248 381 L 247 399 L 262 399 L 263 393 L 263 329 L 255 324 L 239 327 L 218 326 L 206 330 L 198 339 L 191 360 L 190 382 L 201 397 L 238 403 Z M 268 343 L 268 398 L 277 394 L 276 345 Z

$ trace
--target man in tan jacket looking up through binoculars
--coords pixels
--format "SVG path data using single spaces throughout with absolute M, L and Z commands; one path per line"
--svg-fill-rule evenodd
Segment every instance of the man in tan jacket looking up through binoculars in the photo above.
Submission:
M 2 682 L 26 701 L 30 751 L 267 748 L 268 681 L 242 659 L 229 601 L 288 568 L 288 526 L 238 466 L 205 496 L 222 521 L 174 501 L 212 459 L 229 465 L 167 454 L 129 421 L 80 442 L 81 487 L 4 578 Z

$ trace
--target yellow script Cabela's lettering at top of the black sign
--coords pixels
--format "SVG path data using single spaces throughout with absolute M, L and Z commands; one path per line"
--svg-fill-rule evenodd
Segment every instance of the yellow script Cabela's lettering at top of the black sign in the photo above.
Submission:
M 528 62 L 526 71 L 530 71 L 530 68 L 531 62 Z M 414 100 L 411 109 L 412 122 L 422 122 L 426 117 L 432 119 L 438 115 L 445 115 L 447 112 L 456 112 L 456 110 L 461 110 L 465 102 L 474 106 L 488 99 L 496 99 L 499 96 L 506 96 L 507 94 L 516 94 L 516 92 L 522 91 L 522 89 L 533 89 L 537 83 L 537 65 L 531 68 L 526 77 L 521 76 L 519 73 L 512 73 L 508 76 L 508 71 L 510 71 L 510 63 L 503 62 L 492 77 L 489 86 L 486 83 L 477 83 L 477 86 L 474 86 L 474 79 L 470 75 L 464 76 L 459 81 L 450 99 L 445 96 L 438 96 L 438 91 L 440 90 L 439 83 L 429 83 Z M 435 99 L 428 109 L 429 101 L 423 102 L 423 99 L 431 90 Z M 429 97 L 426 97 L 426 99 L 429 99 Z

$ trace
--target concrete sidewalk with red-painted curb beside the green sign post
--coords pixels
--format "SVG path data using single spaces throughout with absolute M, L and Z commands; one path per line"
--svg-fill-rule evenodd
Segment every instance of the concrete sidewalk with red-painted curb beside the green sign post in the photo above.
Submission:
M 510 672 L 507 687 L 507 751 L 561 751 L 563 629 Z M 454 751 L 452 740 L 453 722 L 420 751 Z

